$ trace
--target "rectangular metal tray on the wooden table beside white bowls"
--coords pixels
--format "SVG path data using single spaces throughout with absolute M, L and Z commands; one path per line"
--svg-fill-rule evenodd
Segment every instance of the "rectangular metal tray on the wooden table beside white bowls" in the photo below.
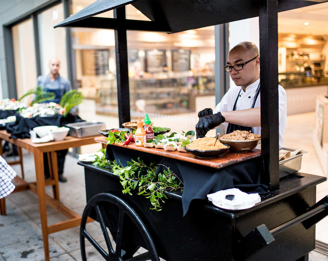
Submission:
M 99 131 L 106 128 L 106 124 L 99 121 L 83 121 L 65 126 L 70 128 L 70 135 L 77 138 L 99 135 Z

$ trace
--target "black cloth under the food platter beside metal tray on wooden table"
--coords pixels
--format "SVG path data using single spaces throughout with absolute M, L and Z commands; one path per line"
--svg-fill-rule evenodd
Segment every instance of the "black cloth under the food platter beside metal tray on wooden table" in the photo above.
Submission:
M 6 124 L 6 130 L 11 133 L 10 137 L 13 139 L 31 138 L 30 130 L 38 126 L 55 125 L 63 127 L 65 124 L 84 121 L 77 115 L 68 114 L 66 117 L 63 115 L 54 115 L 47 117 L 33 117 L 24 118 L 16 113 L 16 121 Z

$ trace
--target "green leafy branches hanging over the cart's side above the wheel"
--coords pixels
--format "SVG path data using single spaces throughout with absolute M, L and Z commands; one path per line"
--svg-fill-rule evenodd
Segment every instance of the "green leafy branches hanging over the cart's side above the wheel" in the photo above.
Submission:
M 100 150 L 104 155 L 99 157 L 96 155 L 96 160 L 93 165 L 98 165 L 101 167 L 111 167 L 114 175 L 119 175 L 121 179 L 121 184 L 123 186 L 123 194 L 129 193 L 132 195 L 131 190 L 138 186 L 138 195 L 144 195 L 146 198 L 150 199 L 152 207 L 150 209 L 155 209 L 156 211 L 162 210 L 160 203 L 165 203 L 163 198 L 167 199 L 164 194 L 165 191 L 175 191 L 181 189 L 183 192 L 183 183 L 181 180 L 167 168 L 164 170 L 163 174 L 156 174 L 158 166 L 155 163 L 150 163 L 147 166 L 140 158 L 137 161 L 131 160 L 127 162 L 127 167 L 122 167 L 117 164 L 116 161 L 109 161 L 105 159 L 105 149 Z M 179 180 L 179 183 L 175 181 L 175 178 Z

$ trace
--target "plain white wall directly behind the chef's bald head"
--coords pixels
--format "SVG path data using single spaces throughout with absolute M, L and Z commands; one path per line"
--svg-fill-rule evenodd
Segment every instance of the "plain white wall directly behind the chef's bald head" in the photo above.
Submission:
M 253 42 L 260 49 L 258 17 L 229 23 L 229 50 L 244 41 Z M 235 86 L 231 78 L 230 86 Z

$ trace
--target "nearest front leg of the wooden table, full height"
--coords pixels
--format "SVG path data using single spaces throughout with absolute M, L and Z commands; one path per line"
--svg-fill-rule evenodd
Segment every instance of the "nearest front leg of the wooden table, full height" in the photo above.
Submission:
M 40 208 L 41 229 L 43 238 L 43 248 L 45 260 L 49 261 L 49 240 L 47 224 L 46 189 L 44 180 L 43 153 L 39 150 L 34 151 L 34 164 L 36 174 L 36 186 L 38 190 L 38 200 Z

